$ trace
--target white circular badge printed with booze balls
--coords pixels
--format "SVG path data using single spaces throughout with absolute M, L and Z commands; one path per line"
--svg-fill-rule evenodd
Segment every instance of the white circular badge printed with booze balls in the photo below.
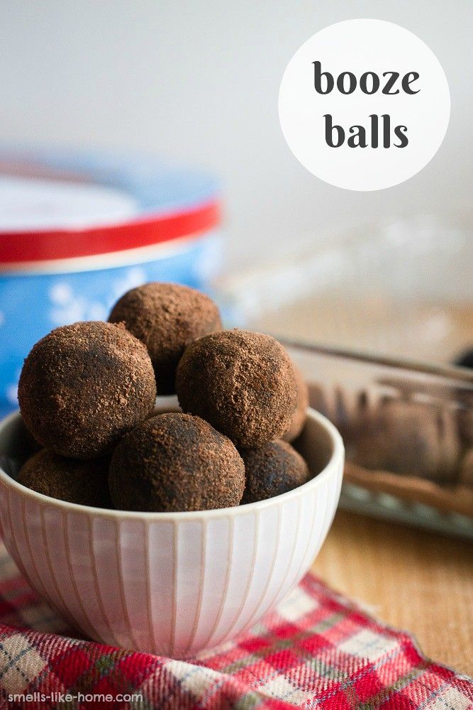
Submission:
M 422 170 L 450 118 L 447 77 L 408 30 L 347 20 L 297 50 L 279 89 L 284 138 L 302 165 L 330 185 L 382 190 Z

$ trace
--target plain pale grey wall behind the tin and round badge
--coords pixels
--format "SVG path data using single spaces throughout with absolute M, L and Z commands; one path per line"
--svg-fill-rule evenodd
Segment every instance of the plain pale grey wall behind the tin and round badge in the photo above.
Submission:
M 399 23 L 450 83 L 440 151 L 404 185 L 349 192 L 297 163 L 279 129 L 282 72 L 330 23 Z M 223 179 L 230 265 L 345 226 L 468 206 L 473 178 L 472 0 L 2 0 L 2 140 L 145 149 Z

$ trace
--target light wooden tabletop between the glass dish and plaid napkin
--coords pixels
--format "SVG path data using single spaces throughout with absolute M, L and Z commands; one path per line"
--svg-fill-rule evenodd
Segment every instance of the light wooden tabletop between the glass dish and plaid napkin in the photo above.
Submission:
M 312 570 L 428 657 L 473 674 L 473 545 L 339 510 Z

